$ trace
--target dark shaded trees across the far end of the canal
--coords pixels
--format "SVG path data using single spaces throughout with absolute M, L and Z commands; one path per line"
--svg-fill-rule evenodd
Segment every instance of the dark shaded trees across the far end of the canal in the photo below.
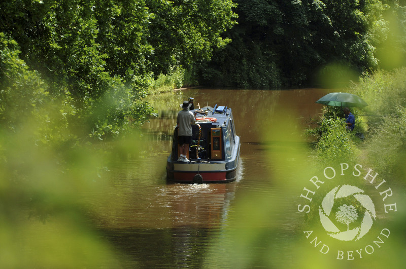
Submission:
M 207 83 L 245 88 L 311 85 L 314 74 L 330 63 L 360 73 L 378 67 L 376 48 L 389 35 L 386 1 L 235 2 L 238 25 L 226 33 L 232 42 L 197 66 Z M 390 4 L 404 18 L 398 1 Z

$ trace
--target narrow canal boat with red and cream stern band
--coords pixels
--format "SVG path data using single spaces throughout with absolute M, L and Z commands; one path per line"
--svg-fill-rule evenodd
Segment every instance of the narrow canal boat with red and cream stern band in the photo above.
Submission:
M 240 160 L 240 137 L 235 134 L 232 110 L 227 106 L 206 106 L 190 110 L 192 143 L 188 161 L 178 161 L 178 127 L 175 127 L 166 178 L 184 183 L 222 183 L 236 179 Z

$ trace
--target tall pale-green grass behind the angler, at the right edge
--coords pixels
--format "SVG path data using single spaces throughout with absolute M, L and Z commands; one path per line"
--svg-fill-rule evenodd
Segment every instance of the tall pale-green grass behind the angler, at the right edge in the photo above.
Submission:
M 354 93 L 368 103 L 366 117 L 369 134 L 365 156 L 382 174 L 398 177 L 404 174 L 406 145 L 406 68 L 379 70 L 363 76 L 354 84 Z

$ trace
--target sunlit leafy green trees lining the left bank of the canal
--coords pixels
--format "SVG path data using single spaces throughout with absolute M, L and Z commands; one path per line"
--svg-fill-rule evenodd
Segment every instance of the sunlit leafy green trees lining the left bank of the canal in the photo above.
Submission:
M 153 113 L 143 101 L 153 75 L 224 47 L 228 39 L 220 34 L 233 24 L 233 6 L 231 0 L 1 2 L 2 125 L 16 129 L 21 117 L 10 115 L 27 117 L 45 103 L 52 108 L 43 120 L 52 110 L 77 137 L 101 139 L 129 122 L 142 124 Z

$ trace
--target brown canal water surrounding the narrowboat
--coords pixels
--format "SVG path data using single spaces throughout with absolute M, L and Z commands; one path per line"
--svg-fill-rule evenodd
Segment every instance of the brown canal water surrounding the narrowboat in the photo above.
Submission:
M 280 150 L 285 150 L 286 145 L 269 141 L 264 130 L 279 128 L 280 122 L 289 121 L 293 132 L 301 134 L 310 118 L 321 112 L 322 105 L 315 101 L 326 93 L 318 89 L 189 89 L 162 94 L 151 101 L 159 117 L 143 128 L 146 143 L 139 152 L 141 158 L 120 167 L 110 167 L 109 194 L 104 194 L 104 200 L 97 200 L 105 202 L 95 205 L 98 226 L 122 255 L 121 266 L 227 268 L 230 266 L 228 253 L 234 251 L 236 244 L 229 230 L 238 229 L 240 225 L 248 230 L 256 226 L 267 230 L 281 219 L 285 220 L 285 216 L 270 215 L 275 203 L 292 203 L 281 197 L 280 187 L 273 184 L 273 173 L 284 168 L 269 162 L 265 149 L 269 143 L 281 147 Z M 165 164 L 171 151 L 176 116 L 179 105 L 188 97 L 194 97 L 196 107 L 197 104 L 201 107 L 218 104 L 232 108 L 236 133 L 242 143 L 241 164 L 235 182 L 200 185 L 166 182 Z M 272 198 L 273 205 L 267 205 L 264 198 Z M 269 208 L 269 216 L 258 216 L 260 222 L 250 222 L 255 216 L 242 215 L 241 204 L 248 208 Z M 295 210 L 295 207 L 291 208 L 292 212 Z M 284 242 L 285 237 L 288 241 L 291 233 L 289 227 L 283 230 L 287 232 L 278 234 L 279 242 Z M 241 243 L 244 240 L 240 240 L 248 253 L 257 253 L 258 262 L 248 262 L 250 267 L 267 264 L 260 258 L 270 255 L 263 244 L 268 244 L 275 236 L 259 233 L 261 235 L 260 243 L 256 245 L 244 245 Z M 286 247 L 284 243 L 278 245 L 280 249 Z

